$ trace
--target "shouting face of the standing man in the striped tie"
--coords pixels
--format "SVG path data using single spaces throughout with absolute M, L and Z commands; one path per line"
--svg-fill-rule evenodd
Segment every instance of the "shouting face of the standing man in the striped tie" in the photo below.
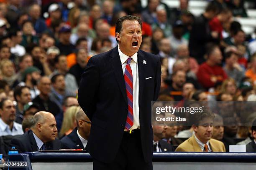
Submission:
M 142 42 L 141 25 L 137 20 L 125 20 L 120 33 L 116 33 L 120 50 L 128 56 L 138 52 Z

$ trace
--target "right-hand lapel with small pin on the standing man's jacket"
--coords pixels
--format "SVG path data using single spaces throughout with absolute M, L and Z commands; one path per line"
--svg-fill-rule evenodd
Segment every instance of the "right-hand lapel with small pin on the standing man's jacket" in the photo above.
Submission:
M 146 73 L 146 64 L 143 64 L 143 61 L 146 61 L 145 56 L 142 52 L 138 51 L 138 74 L 139 74 L 139 106 L 142 102 L 143 89 L 145 85 L 145 73 Z

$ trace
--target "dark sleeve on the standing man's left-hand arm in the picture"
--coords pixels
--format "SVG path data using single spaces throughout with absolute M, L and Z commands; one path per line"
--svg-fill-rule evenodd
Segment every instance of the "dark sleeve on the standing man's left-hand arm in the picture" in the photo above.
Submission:
M 79 105 L 90 120 L 92 120 L 92 115 L 96 111 L 97 88 L 100 82 L 99 77 L 95 57 L 92 57 L 82 74 L 77 98 Z

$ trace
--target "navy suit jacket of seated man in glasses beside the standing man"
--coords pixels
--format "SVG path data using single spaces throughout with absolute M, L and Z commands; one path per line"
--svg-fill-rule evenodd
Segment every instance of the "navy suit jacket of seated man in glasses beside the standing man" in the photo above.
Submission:
M 84 146 L 77 135 L 77 128 L 72 133 L 61 139 L 61 142 L 70 149 L 84 149 Z

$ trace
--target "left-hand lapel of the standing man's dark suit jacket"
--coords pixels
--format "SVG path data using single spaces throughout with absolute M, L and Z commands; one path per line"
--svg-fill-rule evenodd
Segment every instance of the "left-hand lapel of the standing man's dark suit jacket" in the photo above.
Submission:
M 113 69 L 113 72 L 115 75 L 115 79 L 118 82 L 118 85 L 120 87 L 120 90 L 122 92 L 125 102 L 128 103 L 127 95 L 126 95 L 126 91 L 125 91 L 125 81 L 124 81 L 124 76 L 123 76 L 122 63 L 121 63 L 120 56 L 118 53 L 118 46 L 113 49 L 110 57 L 112 57 L 112 69 Z

